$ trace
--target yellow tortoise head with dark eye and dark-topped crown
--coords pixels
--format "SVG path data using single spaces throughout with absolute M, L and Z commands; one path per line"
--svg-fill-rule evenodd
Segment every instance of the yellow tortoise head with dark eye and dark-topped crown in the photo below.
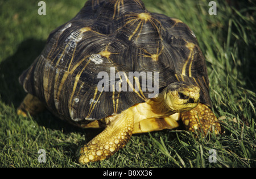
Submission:
M 183 112 L 196 107 L 199 103 L 200 88 L 185 82 L 174 82 L 164 90 L 165 105 L 171 111 Z

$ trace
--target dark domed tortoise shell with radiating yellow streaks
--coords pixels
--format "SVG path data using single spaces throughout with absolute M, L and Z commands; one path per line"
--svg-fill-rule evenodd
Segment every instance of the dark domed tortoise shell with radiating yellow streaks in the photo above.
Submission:
M 125 75 L 118 78 L 119 72 Z M 147 82 L 143 75 L 128 78 L 129 72 L 146 74 Z M 109 75 L 102 89 L 99 74 Z M 200 102 L 211 106 L 195 34 L 178 19 L 150 13 L 139 0 L 86 2 L 75 18 L 51 32 L 19 81 L 53 114 L 78 126 L 147 101 L 148 81 L 159 93 L 177 81 L 199 86 Z

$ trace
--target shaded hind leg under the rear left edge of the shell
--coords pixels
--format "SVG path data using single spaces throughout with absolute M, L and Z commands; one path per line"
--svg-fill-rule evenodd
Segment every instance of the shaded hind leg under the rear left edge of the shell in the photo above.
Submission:
M 27 116 L 27 113 L 30 115 L 35 115 L 43 111 L 46 107 L 44 104 L 32 94 L 27 94 L 23 99 L 23 102 L 17 109 L 17 114 L 22 116 Z

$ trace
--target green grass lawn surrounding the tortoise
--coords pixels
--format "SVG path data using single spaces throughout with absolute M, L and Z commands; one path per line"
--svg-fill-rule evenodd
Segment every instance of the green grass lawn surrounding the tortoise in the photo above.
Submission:
M 255 167 L 256 5 L 216 1 L 217 15 L 204 0 L 144 0 L 148 10 L 179 18 L 195 32 L 207 60 L 213 111 L 225 131 L 196 138 L 191 132 L 164 130 L 132 136 L 109 160 L 80 165 L 79 146 L 96 133 L 72 127 L 48 111 L 23 118 L 15 110 L 25 93 L 18 77 L 40 54 L 47 36 L 67 22 L 84 2 L 0 2 L 0 166 L 2 167 Z M 98 131 L 97 131 L 98 132 Z M 46 163 L 39 163 L 39 149 Z M 210 149 L 217 152 L 210 163 Z

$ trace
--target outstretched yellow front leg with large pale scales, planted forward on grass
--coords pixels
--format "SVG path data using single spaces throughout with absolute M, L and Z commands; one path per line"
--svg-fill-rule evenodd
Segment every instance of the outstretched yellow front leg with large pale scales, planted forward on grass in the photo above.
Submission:
M 131 109 L 106 118 L 107 127 L 80 149 L 79 163 L 85 164 L 104 160 L 124 147 L 131 138 L 134 128 L 134 116 Z

